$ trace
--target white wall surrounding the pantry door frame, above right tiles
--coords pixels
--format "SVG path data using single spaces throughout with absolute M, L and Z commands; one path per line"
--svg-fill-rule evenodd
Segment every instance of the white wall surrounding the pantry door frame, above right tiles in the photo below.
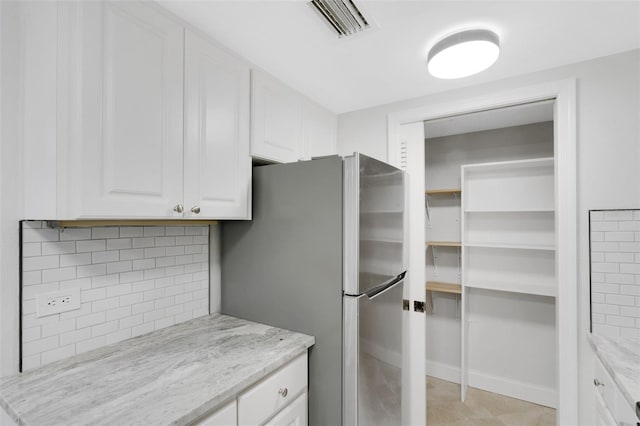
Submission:
M 426 72 L 426 70 L 425 70 Z M 640 206 L 640 50 L 338 117 L 338 152 L 387 158 L 387 114 L 523 86 L 577 79 L 578 347 L 581 424 L 592 423 L 588 210 Z

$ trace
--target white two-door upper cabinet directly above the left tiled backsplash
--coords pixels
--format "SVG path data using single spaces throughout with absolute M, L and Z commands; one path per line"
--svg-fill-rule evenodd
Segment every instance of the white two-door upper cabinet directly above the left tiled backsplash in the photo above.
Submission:
M 248 65 L 152 3 L 59 5 L 58 218 L 249 218 Z

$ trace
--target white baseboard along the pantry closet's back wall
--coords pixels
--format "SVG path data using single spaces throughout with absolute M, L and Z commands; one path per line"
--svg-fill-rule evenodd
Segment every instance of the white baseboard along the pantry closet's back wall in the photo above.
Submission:
M 460 367 L 430 360 L 426 360 L 425 366 L 428 376 L 448 382 L 460 383 Z M 511 380 L 506 377 L 494 376 L 477 370 L 469 371 L 469 386 L 544 405 L 545 407 L 556 408 L 558 405 L 558 395 L 553 389 Z

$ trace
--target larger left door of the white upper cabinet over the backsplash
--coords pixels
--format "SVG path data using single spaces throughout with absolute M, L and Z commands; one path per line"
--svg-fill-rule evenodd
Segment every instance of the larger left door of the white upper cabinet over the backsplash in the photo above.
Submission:
M 85 2 L 75 19 L 71 216 L 181 217 L 183 28 L 143 2 Z

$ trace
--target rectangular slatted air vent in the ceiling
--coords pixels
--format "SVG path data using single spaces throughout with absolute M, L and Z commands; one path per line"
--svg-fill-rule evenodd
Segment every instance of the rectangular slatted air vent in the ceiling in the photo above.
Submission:
M 338 37 L 347 37 L 370 28 L 369 22 L 351 0 L 311 0 L 309 4 Z

